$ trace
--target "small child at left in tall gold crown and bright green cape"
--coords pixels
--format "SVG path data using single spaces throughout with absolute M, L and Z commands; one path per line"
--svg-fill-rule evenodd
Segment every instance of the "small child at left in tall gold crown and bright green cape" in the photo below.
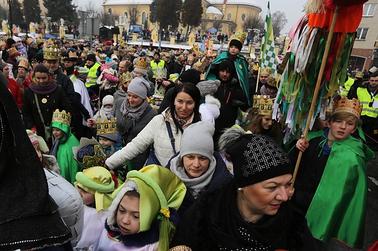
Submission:
M 76 173 L 80 171 L 80 164 L 74 159 L 72 147 L 79 146 L 79 140 L 71 133 L 71 114 L 65 110 L 56 109 L 52 115 L 50 132 L 54 136 L 54 143 L 50 154 L 56 157 L 61 169 L 61 176 L 74 185 Z

